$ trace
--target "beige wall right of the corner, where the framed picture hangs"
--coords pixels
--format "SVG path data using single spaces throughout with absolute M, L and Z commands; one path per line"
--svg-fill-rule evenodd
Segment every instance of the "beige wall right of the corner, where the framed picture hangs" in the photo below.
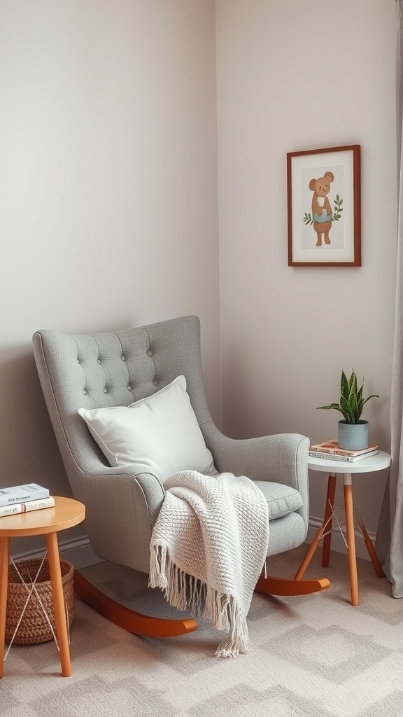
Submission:
M 394 0 L 217 0 L 224 426 L 336 437 L 341 369 L 389 449 L 396 262 Z M 361 268 L 287 265 L 286 153 L 361 145 Z M 331 320 L 331 325 L 329 324 Z M 340 416 L 341 417 L 341 416 Z M 312 473 L 318 521 L 324 474 Z M 385 475 L 354 479 L 374 533 Z

